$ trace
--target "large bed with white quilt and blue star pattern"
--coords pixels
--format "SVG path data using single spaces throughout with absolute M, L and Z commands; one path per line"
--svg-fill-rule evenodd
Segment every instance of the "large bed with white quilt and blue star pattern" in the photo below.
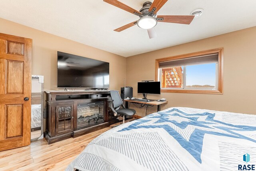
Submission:
M 66 171 L 228 171 L 250 164 L 256 115 L 172 107 L 102 133 Z

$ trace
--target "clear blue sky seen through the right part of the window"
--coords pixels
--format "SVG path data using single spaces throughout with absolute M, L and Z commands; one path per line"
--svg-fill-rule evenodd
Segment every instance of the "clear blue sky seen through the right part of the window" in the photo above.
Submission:
M 186 85 L 214 85 L 216 64 L 186 66 Z

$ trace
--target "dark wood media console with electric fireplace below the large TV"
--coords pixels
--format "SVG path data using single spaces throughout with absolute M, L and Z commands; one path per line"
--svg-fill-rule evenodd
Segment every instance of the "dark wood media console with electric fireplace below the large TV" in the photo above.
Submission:
M 108 102 L 109 91 L 45 91 L 46 131 L 48 144 L 78 137 L 116 122 Z

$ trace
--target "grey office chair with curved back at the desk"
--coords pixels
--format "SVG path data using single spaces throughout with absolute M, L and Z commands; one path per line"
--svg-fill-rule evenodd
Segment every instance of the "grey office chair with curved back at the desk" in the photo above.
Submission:
M 114 112 L 114 116 L 121 115 L 123 116 L 123 123 L 125 120 L 125 116 L 133 116 L 136 111 L 134 109 L 126 109 L 124 107 L 123 101 L 119 95 L 117 90 L 110 90 L 110 95 L 112 101 L 109 103 L 108 107 Z M 122 106 L 122 109 L 120 107 Z

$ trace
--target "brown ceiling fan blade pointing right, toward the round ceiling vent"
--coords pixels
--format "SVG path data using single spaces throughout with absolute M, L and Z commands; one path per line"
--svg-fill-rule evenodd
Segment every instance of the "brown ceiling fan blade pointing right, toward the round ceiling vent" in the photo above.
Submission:
M 157 20 L 158 22 L 172 22 L 178 24 L 190 24 L 195 16 L 157 16 L 157 18 L 164 18 L 164 20 Z

